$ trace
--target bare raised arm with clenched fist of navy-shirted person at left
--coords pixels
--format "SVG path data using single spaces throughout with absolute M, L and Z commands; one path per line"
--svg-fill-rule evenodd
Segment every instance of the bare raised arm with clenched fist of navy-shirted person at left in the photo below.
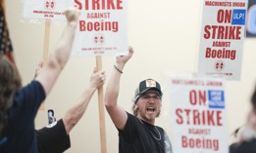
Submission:
M 40 74 L 35 78 L 43 86 L 46 95 L 51 91 L 71 55 L 79 14 L 76 8 L 65 12 L 68 23 L 57 43 L 55 52 L 50 55 Z

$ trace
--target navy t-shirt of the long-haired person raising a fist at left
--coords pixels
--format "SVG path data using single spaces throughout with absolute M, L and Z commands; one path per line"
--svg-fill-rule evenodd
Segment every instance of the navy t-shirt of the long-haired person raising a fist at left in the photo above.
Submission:
M 0 153 L 37 153 L 34 118 L 45 98 L 43 87 L 32 81 L 14 95 L 8 125 L 0 137 Z

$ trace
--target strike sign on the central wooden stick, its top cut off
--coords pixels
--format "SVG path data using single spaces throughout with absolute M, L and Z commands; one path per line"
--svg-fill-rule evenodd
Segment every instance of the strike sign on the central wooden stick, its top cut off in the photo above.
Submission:
M 75 0 L 81 10 L 73 55 L 127 55 L 127 1 Z

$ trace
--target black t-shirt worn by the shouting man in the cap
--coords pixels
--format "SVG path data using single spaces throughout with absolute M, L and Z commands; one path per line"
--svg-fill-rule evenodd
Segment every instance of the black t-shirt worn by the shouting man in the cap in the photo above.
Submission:
M 172 153 L 171 141 L 166 132 L 128 113 L 123 131 L 119 130 L 120 153 Z

